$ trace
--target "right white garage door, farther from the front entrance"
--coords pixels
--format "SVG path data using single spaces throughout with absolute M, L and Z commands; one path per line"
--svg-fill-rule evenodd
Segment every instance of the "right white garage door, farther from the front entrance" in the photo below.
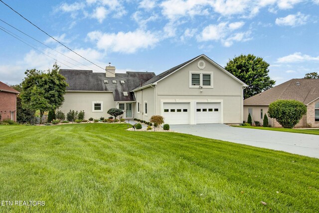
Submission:
M 220 103 L 197 103 L 196 124 L 218 124 L 221 123 Z

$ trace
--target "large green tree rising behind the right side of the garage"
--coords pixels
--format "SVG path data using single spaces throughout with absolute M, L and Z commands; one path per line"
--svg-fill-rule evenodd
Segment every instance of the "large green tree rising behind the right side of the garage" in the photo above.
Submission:
M 266 89 L 272 88 L 276 81 L 269 77 L 269 63 L 253 54 L 229 59 L 225 69 L 248 85 L 244 89 L 244 98 L 249 98 Z

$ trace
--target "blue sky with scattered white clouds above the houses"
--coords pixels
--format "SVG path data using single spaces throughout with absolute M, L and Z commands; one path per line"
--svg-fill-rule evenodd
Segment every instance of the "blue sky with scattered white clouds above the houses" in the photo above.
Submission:
M 319 72 L 319 0 L 3 1 L 99 66 L 111 62 L 117 72 L 159 74 L 202 53 L 222 66 L 240 54 L 263 57 L 277 84 Z M 68 56 L 0 21 L 0 29 L 57 59 L 61 68 L 103 72 L 1 2 L 0 19 Z M 2 30 L 0 38 L 4 83 L 20 83 L 26 69 L 46 70 L 55 61 Z

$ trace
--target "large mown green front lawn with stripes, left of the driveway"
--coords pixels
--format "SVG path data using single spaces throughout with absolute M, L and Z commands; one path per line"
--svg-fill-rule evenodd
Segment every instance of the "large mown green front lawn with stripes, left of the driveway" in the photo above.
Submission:
M 45 201 L 0 212 L 319 212 L 319 159 L 126 128 L 0 126 L 1 201 Z

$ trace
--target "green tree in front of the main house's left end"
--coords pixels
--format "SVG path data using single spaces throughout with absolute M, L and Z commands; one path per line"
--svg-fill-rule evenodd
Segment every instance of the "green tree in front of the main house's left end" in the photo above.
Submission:
M 65 77 L 59 74 L 59 66 L 55 63 L 53 69 L 41 71 L 26 70 L 22 82 L 22 103 L 32 110 L 40 111 L 40 123 L 45 111 L 55 110 L 64 101 L 67 83 Z

